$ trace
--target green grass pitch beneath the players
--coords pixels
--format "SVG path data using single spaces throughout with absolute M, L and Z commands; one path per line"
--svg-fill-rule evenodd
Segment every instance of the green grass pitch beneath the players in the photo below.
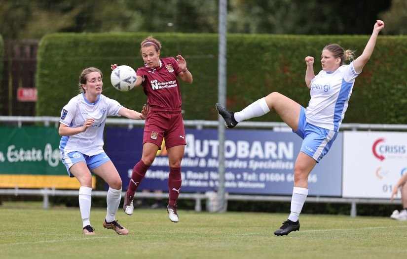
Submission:
M 300 231 L 274 236 L 288 214 L 209 214 L 119 208 L 126 236 L 104 229 L 105 209 L 92 208 L 96 235 L 82 235 L 79 208 L 44 210 L 17 203 L 0 206 L 0 258 L 21 259 L 260 259 L 404 258 L 407 221 L 388 217 L 301 215 Z

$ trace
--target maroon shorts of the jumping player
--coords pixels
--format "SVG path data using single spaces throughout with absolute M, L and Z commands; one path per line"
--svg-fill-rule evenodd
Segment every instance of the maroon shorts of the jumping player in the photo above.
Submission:
M 165 147 L 186 145 L 184 120 L 181 112 L 150 111 L 146 118 L 143 144 L 154 143 L 161 149 L 165 137 Z

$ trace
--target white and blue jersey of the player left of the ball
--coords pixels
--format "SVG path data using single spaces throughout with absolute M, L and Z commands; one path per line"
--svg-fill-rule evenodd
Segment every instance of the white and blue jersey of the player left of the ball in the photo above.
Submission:
M 63 136 L 59 143 L 62 158 L 66 154 L 78 151 L 82 154 L 93 156 L 103 151 L 103 130 L 108 116 L 120 116 L 118 111 L 122 105 L 116 100 L 105 95 L 99 95 L 95 103 L 86 100 L 85 95 L 80 93 L 72 98 L 61 112 L 59 122 L 71 128 L 82 127 L 88 118 L 95 120 L 92 127 L 84 132 L 72 136 Z

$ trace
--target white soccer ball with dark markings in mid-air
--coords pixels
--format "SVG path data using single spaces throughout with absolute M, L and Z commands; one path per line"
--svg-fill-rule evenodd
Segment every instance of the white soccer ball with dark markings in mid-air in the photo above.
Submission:
M 111 85 L 119 91 L 125 92 L 133 89 L 136 85 L 136 71 L 129 66 L 118 66 L 111 71 Z

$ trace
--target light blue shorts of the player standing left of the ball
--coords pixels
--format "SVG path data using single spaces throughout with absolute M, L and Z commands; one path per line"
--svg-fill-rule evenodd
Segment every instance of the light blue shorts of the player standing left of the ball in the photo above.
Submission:
M 67 168 L 68 174 L 70 177 L 75 177 L 74 175 L 71 174 L 69 169 L 76 163 L 78 162 L 85 162 L 87 167 L 89 168 L 89 171 L 92 172 L 93 169 L 100 167 L 102 164 L 105 164 L 106 162 L 111 161 L 108 155 L 106 155 L 105 152 L 99 153 L 94 156 L 88 156 L 84 155 L 80 152 L 73 151 L 65 155 L 65 157 L 62 158 L 62 163 L 65 165 Z

